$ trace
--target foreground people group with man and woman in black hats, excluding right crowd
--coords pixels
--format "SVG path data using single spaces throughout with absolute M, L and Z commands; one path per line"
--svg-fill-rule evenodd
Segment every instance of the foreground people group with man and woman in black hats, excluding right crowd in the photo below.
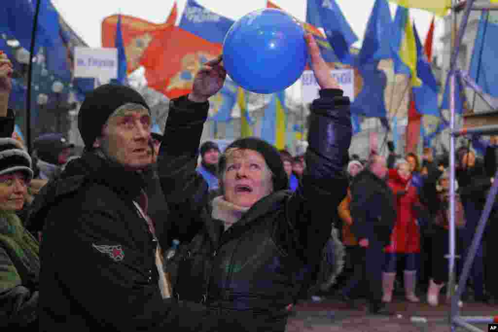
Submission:
M 306 173 L 290 182 L 278 150 L 242 138 L 219 155 L 218 188 L 202 175 L 217 151 L 203 148 L 199 169 L 198 155 L 208 98 L 226 78 L 221 56 L 172 101 L 159 136 L 132 88 L 87 94 L 78 113 L 84 151 L 69 158 L 73 146 L 57 134 L 35 139 L 32 156 L 11 138 L 12 66 L 1 54 L 0 326 L 284 331 L 333 232 L 327 215 L 309 216 L 345 196 L 352 136 L 349 99 L 306 40 L 321 87 Z M 44 181 L 37 193 L 35 173 Z M 172 239 L 182 246 L 167 260 Z

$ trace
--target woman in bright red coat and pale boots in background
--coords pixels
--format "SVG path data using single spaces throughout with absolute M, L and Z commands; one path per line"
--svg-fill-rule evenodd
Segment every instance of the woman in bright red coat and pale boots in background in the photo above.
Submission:
M 411 183 L 411 172 L 408 162 L 400 160 L 396 169 L 389 170 L 387 184 L 394 193 L 397 217 L 391 233 L 391 243 L 384 248 L 386 260 L 383 273 L 382 301 L 391 302 L 396 263 L 405 259 L 404 288 L 406 299 L 419 302 L 415 295 L 417 259 L 420 252 L 420 231 L 416 222 L 420 203 L 417 189 Z

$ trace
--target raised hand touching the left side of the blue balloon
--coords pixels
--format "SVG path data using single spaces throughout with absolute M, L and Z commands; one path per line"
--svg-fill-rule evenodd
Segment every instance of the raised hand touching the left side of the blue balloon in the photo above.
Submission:
M 208 61 L 195 75 L 192 92 L 188 99 L 193 102 L 205 102 L 223 87 L 227 72 L 221 64 L 222 56 Z

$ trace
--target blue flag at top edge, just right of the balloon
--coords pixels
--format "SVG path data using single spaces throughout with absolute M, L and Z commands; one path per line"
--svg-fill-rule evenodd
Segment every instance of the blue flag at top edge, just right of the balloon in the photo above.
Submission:
M 353 64 L 350 46 L 358 37 L 335 0 L 308 0 L 306 22 L 322 27 L 339 60 Z

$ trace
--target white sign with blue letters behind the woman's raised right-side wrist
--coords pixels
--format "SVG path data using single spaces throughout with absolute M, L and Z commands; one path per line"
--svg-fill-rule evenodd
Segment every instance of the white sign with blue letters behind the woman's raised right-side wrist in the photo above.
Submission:
M 355 100 L 355 72 L 353 69 L 334 69 L 330 74 L 335 77 L 344 91 L 344 96 L 349 97 L 351 102 Z M 315 74 L 311 70 L 305 70 L 301 76 L 302 97 L 304 104 L 312 103 L 319 98 L 320 86 L 316 82 Z

